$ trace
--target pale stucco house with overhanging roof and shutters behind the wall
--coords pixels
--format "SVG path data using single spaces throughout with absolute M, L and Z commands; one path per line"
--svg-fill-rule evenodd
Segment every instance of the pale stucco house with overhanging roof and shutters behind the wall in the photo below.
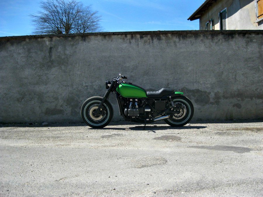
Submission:
M 188 20 L 200 30 L 263 29 L 263 0 L 206 0 Z

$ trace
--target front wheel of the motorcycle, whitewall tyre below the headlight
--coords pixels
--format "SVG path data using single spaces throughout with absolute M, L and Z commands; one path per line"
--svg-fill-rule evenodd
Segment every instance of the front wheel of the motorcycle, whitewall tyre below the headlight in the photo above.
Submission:
M 92 128 L 103 128 L 107 126 L 113 117 L 113 108 L 108 100 L 105 100 L 101 106 L 100 114 L 95 114 L 101 101 L 102 97 L 90 97 L 81 106 L 81 117 L 83 121 Z

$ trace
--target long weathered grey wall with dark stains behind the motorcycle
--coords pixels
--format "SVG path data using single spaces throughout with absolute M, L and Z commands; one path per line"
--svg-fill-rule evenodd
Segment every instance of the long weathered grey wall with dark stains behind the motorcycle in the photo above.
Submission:
M 194 120 L 263 118 L 263 31 L 119 32 L 0 38 L 0 122 L 79 122 L 119 73 L 180 90 Z M 121 120 L 110 95 L 114 120 Z

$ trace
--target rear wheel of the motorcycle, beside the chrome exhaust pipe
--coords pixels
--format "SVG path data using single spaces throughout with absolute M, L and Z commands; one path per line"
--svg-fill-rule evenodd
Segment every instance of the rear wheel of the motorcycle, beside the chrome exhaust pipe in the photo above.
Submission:
M 194 113 L 193 104 L 187 97 L 175 97 L 173 103 L 170 102 L 170 106 L 175 113 L 172 118 L 164 120 L 168 125 L 172 127 L 181 127 L 192 119 Z

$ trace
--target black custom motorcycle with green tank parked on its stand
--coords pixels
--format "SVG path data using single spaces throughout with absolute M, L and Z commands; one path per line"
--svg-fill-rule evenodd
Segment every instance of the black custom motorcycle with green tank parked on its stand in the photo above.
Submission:
M 168 125 L 180 127 L 193 117 L 192 102 L 182 92 L 170 88 L 158 91 L 146 91 L 140 86 L 127 83 L 125 76 L 117 76 L 106 81 L 106 93 L 103 97 L 90 97 L 81 107 L 83 121 L 92 128 L 107 126 L 113 117 L 113 107 L 108 101 L 110 93 L 115 93 L 120 115 L 126 121 L 153 123 L 164 120 Z

